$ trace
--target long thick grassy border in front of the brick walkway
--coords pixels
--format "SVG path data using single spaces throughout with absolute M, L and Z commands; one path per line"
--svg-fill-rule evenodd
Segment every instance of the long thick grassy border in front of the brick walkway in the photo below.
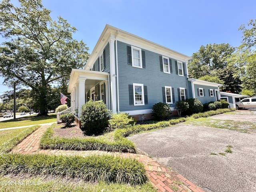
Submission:
M 56 156 L 46 154 L 2 154 L 0 174 L 60 176 L 86 182 L 143 184 L 147 180 L 144 165 L 135 159 L 109 155 Z

